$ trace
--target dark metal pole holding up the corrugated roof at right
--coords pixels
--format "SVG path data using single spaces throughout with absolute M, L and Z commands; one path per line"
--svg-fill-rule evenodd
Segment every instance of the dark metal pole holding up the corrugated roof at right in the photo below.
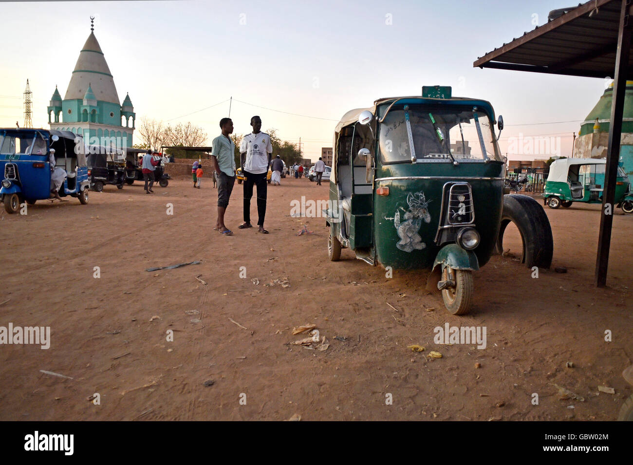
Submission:
M 602 192 L 602 210 L 600 213 L 600 232 L 598 236 L 598 256 L 596 257 L 596 286 L 606 285 L 606 271 L 609 264 L 611 245 L 611 226 L 613 226 L 613 201 L 615 183 L 620 159 L 620 137 L 622 135 L 622 113 L 624 111 L 624 92 L 629 71 L 629 52 L 631 46 L 631 19 L 629 18 L 630 0 L 622 0 L 620 9 L 620 28 L 618 30 L 618 50 L 615 58 L 615 79 L 613 81 L 613 101 L 611 102 L 611 120 L 609 125 L 608 151 L 606 152 L 605 185 Z

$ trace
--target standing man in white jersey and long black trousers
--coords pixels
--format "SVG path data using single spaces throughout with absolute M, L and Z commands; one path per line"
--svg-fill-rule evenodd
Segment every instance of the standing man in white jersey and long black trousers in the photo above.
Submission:
M 253 185 L 257 187 L 257 213 L 259 232 L 268 234 L 264 229 L 264 217 L 266 216 L 266 189 L 268 166 L 272 158 L 273 146 L 270 142 L 270 135 L 261 132 L 261 118 L 253 116 L 251 118 L 253 132 L 244 136 L 240 146 L 242 158 L 242 174 L 244 180 L 244 223 L 239 225 L 240 229 L 252 228 L 251 225 L 251 197 L 253 197 Z

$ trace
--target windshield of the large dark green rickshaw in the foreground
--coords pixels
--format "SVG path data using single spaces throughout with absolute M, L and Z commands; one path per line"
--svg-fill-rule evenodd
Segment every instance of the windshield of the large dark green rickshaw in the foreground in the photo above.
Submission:
M 488 115 L 470 107 L 415 106 L 392 108 L 379 125 L 382 163 L 411 163 L 408 113 L 417 162 L 501 161 Z M 453 156 L 451 158 L 451 155 Z

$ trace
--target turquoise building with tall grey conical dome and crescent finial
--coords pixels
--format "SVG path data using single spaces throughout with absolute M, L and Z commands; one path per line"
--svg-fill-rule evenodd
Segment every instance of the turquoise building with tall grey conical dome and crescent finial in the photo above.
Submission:
M 55 87 L 47 108 L 48 123 L 51 129 L 82 135 L 84 144 L 132 147 L 134 106 L 129 95 L 119 103 L 110 68 L 94 36 L 94 27 L 90 30 L 63 99 Z

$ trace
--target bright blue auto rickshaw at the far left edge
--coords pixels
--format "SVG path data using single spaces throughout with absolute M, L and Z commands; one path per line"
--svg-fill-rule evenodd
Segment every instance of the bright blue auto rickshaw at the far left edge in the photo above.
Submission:
M 83 139 L 70 131 L 0 129 L 0 173 L 0 199 L 7 213 L 16 213 L 23 202 L 54 197 L 52 190 L 88 202 Z M 61 182 L 59 189 L 53 179 Z

